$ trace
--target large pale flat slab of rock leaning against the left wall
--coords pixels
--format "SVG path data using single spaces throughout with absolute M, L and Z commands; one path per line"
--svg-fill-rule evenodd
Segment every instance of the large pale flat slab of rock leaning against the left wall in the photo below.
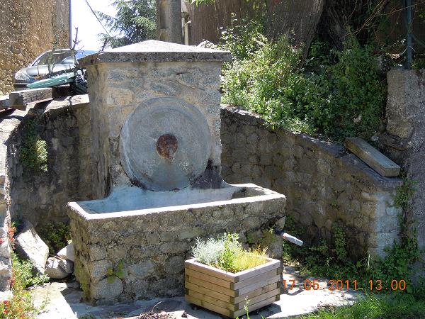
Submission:
M 23 229 L 16 236 L 16 252 L 22 259 L 29 259 L 34 269 L 40 274 L 44 274 L 49 247 L 43 242 L 35 231 L 33 224 L 26 221 Z

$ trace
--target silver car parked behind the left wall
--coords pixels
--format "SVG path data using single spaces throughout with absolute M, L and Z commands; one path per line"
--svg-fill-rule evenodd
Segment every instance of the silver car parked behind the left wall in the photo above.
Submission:
M 77 61 L 81 57 L 91 55 L 96 51 L 79 50 L 76 52 Z M 66 71 L 67 69 L 74 69 L 74 59 L 72 58 L 71 50 L 69 49 L 56 49 L 50 50 L 39 55 L 28 67 L 24 67 L 16 72 L 13 77 L 13 87 L 15 90 L 28 89 L 27 84 L 33 83 L 45 77 L 50 72 Z

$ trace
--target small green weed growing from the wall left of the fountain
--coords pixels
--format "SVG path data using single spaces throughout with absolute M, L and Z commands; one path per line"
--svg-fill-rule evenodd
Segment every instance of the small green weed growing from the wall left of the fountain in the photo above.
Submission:
M 22 166 L 30 172 L 47 172 L 47 145 L 37 133 L 35 122 L 33 120 L 26 122 L 23 132 L 20 149 Z

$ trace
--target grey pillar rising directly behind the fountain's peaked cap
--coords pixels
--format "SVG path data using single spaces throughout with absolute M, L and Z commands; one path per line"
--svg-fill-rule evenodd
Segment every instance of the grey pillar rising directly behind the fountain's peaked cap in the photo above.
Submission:
M 157 0 L 157 40 L 182 43 L 181 0 Z

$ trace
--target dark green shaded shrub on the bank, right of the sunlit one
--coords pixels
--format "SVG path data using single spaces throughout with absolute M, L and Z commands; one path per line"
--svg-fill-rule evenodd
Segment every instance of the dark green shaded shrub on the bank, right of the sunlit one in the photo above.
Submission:
M 324 60 L 329 64 L 322 72 L 306 77 L 307 121 L 335 140 L 370 138 L 379 129 L 387 93 L 373 47 L 349 38 L 345 49 L 332 51 L 331 57 Z

